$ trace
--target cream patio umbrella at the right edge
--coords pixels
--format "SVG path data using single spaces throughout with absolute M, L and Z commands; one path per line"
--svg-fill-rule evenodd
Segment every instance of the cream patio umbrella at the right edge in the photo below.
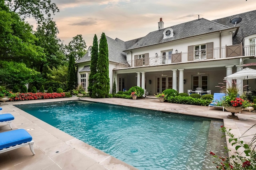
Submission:
M 248 79 L 256 79 L 256 70 L 252 68 L 244 68 L 241 71 L 238 71 L 234 74 L 224 77 L 224 80 L 247 80 Z M 249 87 L 247 86 L 247 92 L 249 91 Z

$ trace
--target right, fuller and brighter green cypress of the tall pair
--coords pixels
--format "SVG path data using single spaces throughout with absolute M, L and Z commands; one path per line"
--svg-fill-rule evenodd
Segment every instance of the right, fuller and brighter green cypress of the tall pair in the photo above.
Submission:
M 97 73 L 94 75 L 95 83 L 92 88 L 92 98 L 105 98 L 110 90 L 108 43 L 105 33 L 102 33 L 100 37 L 97 69 Z

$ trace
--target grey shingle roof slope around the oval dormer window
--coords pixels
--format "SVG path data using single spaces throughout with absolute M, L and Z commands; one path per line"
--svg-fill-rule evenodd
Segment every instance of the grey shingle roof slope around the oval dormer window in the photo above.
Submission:
M 137 43 L 132 45 L 127 50 L 146 47 L 150 45 L 156 45 L 160 43 L 166 43 L 166 42 L 170 42 L 178 39 L 183 39 L 186 37 L 202 35 L 205 33 L 220 31 L 223 29 L 228 29 L 230 27 L 201 18 L 199 20 L 180 23 L 178 25 L 172 26 L 171 28 L 173 29 L 173 32 L 174 32 L 173 37 L 163 39 L 164 37 L 163 31 L 166 28 L 160 29 L 157 31 L 150 32 L 145 37 L 142 37 Z

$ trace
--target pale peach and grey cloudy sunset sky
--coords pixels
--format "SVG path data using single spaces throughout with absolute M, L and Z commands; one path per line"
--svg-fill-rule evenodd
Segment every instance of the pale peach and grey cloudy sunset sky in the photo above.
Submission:
M 52 0 L 60 12 L 53 16 L 58 37 L 68 44 L 82 34 L 87 47 L 94 34 L 128 41 L 158 29 L 200 18 L 214 20 L 256 9 L 256 0 Z M 28 20 L 29 21 L 29 20 Z M 29 21 L 34 24 L 32 21 Z

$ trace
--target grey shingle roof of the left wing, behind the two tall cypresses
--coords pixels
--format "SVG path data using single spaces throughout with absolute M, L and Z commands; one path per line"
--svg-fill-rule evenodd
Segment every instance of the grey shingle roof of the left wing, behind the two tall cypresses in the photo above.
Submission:
M 108 43 L 108 60 L 116 63 L 126 61 L 126 53 L 123 52 L 126 43 L 118 38 L 112 39 L 106 36 L 106 39 Z M 98 44 L 100 44 L 100 40 L 98 41 Z M 86 53 L 77 63 L 83 63 L 90 60 L 91 56 L 88 56 L 88 53 Z

